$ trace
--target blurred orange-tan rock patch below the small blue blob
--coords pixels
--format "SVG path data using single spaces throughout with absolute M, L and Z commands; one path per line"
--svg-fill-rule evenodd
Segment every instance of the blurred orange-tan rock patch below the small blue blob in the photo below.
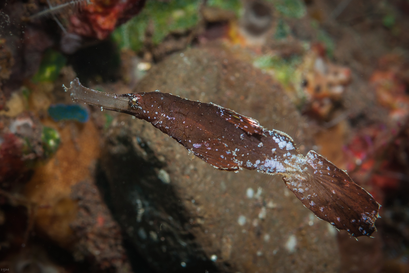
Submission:
M 52 122 L 45 125 L 55 126 Z M 36 227 L 58 245 L 69 247 L 73 241 L 70 223 L 78 212 L 76 201 L 70 197 L 71 187 L 92 177 L 99 139 L 92 122 L 67 122 L 58 131 L 59 149 L 46 164 L 36 168 L 25 186 L 25 196 L 38 206 Z

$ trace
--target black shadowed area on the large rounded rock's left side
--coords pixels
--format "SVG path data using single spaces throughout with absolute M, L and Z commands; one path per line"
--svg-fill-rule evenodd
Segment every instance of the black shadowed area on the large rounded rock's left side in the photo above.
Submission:
M 148 147 L 147 141 L 137 140 L 139 151 L 135 151 L 135 143 L 126 137 L 108 142 L 97 180 L 114 217 L 125 229 L 130 260 L 139 252 L 133 261 L 134 271 L 139 272 L 142 267 L 142 272 L 152 272 L 144 264 L 144 257 L 160 272 L 204 269 L 218 272 L 201 246 L 195 243 L 189 231 L 192 227 L 189 213 L 173 186 L 159 174 L 166 166 Z M 160 258 L 153 260 L 152 257 Z

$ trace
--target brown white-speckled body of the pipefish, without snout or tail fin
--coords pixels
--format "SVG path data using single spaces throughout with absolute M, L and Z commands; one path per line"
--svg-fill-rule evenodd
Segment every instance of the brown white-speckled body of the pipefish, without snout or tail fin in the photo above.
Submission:
M 136 100 L 133 107 L 137 117 L 218 169 L 258 169 L 273 174 L 292 172 L 301 168 L 299 163 L 307 164 L 299 160 L 302 155 L 288 135 L 267 131 L 256 120 L 216 104 L 160 92 L 130 96 Z

